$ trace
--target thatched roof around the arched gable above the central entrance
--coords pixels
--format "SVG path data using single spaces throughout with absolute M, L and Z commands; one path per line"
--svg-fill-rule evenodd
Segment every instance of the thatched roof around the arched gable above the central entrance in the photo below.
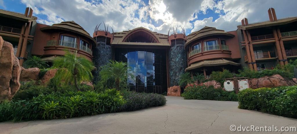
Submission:
M 125 42 L 125 38 L 127 36 L 130 36 L 135 31 L 145 31 L 148 33 L 147 36 L 152 36 L 156 38 L 157 40 L 153 40 L 155 43 L 144 43 L 144 42 Z M 123 32 L 115 32 L 114 33 L 114 39 L 111 43 L 112 45 L 143 45 L 143 46 L 170 46 L 168 43 L 168 35 L 152 32 L 149 29 L 146 29 L 144 27 L 138 27 L 129 31 L 123 31 Z

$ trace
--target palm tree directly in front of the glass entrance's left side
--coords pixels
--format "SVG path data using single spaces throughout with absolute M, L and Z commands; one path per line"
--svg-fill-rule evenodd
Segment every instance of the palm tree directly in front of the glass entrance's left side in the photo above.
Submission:
M 128 64 L 122 61 L 117 62 L 110 60 L 110 63 L 102 66 L 102 70 L 99 74 L 101 80 L 105 82 L 110 79 L 115 80 L 117 90 L 119 90 L 119 84 L 122 80 L 125 80 L 128 77 L 134 79 L 132 68 L 128 67 Z

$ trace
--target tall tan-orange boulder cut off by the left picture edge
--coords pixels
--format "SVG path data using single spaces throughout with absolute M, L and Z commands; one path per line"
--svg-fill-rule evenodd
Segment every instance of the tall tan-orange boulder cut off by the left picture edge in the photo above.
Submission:
M 0 36 L 0 101 L 11 100 L 20 88 L 21 67 L 12 44 Z

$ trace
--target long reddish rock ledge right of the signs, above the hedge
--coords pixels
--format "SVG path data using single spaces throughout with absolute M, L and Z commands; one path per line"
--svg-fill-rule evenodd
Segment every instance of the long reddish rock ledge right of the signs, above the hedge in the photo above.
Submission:
M 294 79 L 287 80 L 282 76 L 280 76 L 279 74 L 274 74 L 269 77 L 265 76 L 259 79 L 251 78 L 251 79 L 248 79 L 248 82 L 249 82 L 249 88 L 253 88 L 253 89 L 264 88 L 264 87 L 272 88 L 272 87 L 279 87 L 279 86 L 293 86 L 297 84 L 297 80 L 296 82 L 294 81 Z

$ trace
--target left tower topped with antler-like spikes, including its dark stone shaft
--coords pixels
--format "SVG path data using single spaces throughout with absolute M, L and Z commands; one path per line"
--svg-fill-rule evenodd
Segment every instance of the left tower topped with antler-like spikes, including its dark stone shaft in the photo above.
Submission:
M 99 72 L 100 67 L 106 65 L 109 60 L 113 59 L 113 49 L 111 47 L 111 43 L 113 41 L 113 29 L 111 26 L 107 25 L 107 27 L 104 24 L 104 29 L 99 29 L 99 25 L 97 25 L 94 29 L 93 38 L 97 42 L 97 47 L 94 49 L 93 52 L 93 62 L 95 64 L 95 67 L 97 70 L 94 72 L 94 82 L 99 81 Z M 108 27 L 112 29 L 112 33 L 108 31 Z

